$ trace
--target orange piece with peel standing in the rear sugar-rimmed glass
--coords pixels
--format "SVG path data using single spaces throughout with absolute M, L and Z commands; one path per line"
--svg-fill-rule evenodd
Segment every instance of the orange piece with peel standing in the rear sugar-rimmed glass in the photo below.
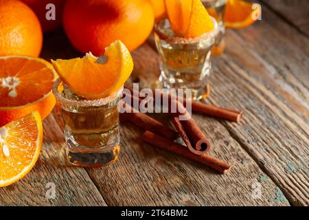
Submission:
M 165 0 L 165 8 L 177 36 L 194 38 L 214 30 L 214 22 L 200 0 Z

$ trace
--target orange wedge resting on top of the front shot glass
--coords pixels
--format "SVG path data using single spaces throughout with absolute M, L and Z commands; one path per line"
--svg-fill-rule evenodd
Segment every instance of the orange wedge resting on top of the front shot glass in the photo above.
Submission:
M 106 47 L 101 58 L 89 53 L 83 58 L 58 59 L 52 64 L 71 91 L 91 100 L 115 93 L 133 71 L 130 52 L 121 41 Z

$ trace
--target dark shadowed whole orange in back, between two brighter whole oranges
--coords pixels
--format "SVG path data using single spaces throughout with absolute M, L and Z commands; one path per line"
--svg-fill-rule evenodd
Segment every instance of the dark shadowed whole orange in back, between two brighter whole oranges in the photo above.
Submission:
M 50 32 L 56 30 L 61 25 L 62 20 L 62 8 L 65 3 L 64 0 L 21 0 L 26 3 L 36 13 L 38 20 L 40 20 L 43 32 Z M 49 11 L 51 8 L 47 7 L 48 4 L 52 3 L 55 5 L 55 20 L 47 20 L 50 15 Z

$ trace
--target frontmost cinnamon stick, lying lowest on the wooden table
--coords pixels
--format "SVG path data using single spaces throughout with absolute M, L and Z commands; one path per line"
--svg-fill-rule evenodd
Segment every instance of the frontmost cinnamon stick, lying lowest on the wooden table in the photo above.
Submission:
M 152 133 L 150 131 L 146 131 L 143 134 L 142 139 L 144 140 L 144 142 L 152 144 L 153 146 L 157 146 L 165 151 L 170 151 L 171 153 L 174 153 L 181 157 L 186 157 L 187 159 L 191 159 L 200 164 L 204 164 L 205 166 L 209 166 L 210 168 L 214 168 L 222 174 L 227 173 L 231 169 L 231 165 L 227 162 L 224 162 L 215 157 L 211 157 L 207 154 L 195 155 L 194 153 L 188 151 L 185 146 L 177 144 L 172 140 L 156 135 L 155 133 Z

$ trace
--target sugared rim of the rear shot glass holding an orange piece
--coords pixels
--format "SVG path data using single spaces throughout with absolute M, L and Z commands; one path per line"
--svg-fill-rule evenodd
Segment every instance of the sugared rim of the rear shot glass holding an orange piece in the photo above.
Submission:
M 170 36 L 167 33 L 164 33 L 162 28 L 160 28 L 160 25 L 162 22 L 168 21 L 168 19 L 161 19 L 158 23 L 155 24 L 155 32 L 159 35 L 161 40 L 167 41 L 168 43 L 172 44 L 190 44 L 190 43 L 198 43 L 199 41 L 206 40 L 206 39 L 212 39 L 216 37 L 218 34 L 219 28 L 218 28 L 218 22 L 214 17 L 210 17 L 211 20 L 214 22 L 214 30 L 211 32 L 206 32 L 205 34 L 202 34 L 201 36 L 197 36 L 195 38 L 183 38 L 180 36 Z M 170 21 L 168 21 L 170 22 Z M 170 27 L 170 30 L 172 28 Z M 174 32 L 172 32 L 174 34 Z

